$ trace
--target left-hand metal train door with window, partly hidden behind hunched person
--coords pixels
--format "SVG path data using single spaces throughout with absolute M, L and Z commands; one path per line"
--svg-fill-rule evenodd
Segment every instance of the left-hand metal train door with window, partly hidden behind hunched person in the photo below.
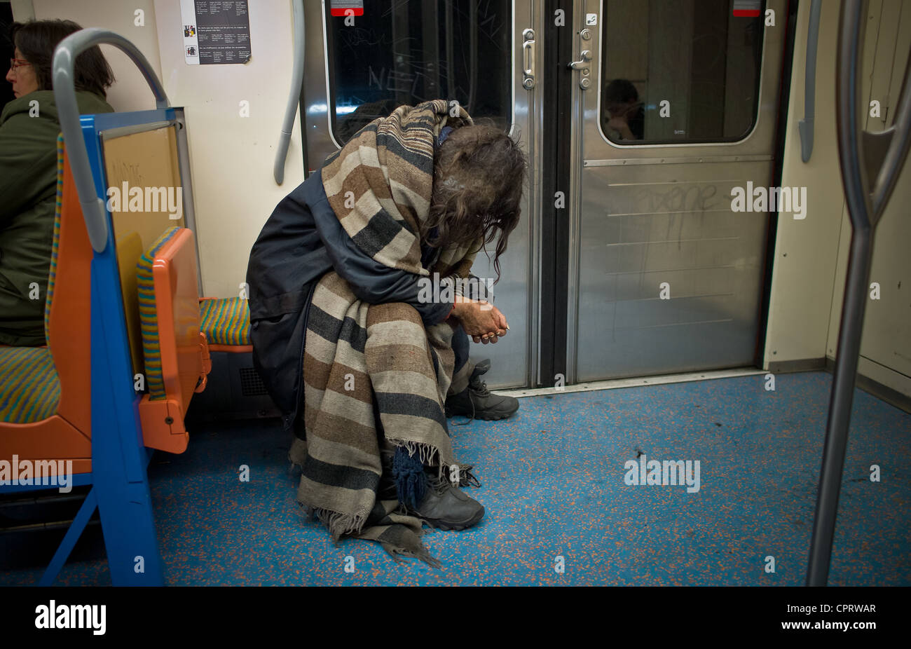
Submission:
M 531 162 L 529 179 L 535 179 L 533 9 L 531 0 L 304 3 L 305 168 L 319 170 L 326 156 L 394 108 L 444 98 L 517 136 Z M 510 332 L 496 345 L 472 345 L 473 358 L 492 360 L 485 376 L 491 387 L 527 386 L 535 371 L 537 183 L 529 180 L 528 187 L 493 291 Z M 473 273 L 496 277 L 484 252 Z

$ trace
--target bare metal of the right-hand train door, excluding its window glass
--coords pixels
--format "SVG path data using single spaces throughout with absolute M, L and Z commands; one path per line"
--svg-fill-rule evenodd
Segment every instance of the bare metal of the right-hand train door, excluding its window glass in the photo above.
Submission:
M 601 60 L 606 4 L 578 0 L 574 7 L 579 30 L 587 13 L 598 12 L 598 26 L 589 27 L 588 39 L 576 38 L 577 52 L 589 49 L 593 60 L 589 89 L 573 89 L 578 180 L 570 191 L 568 378 L 751 365 L 768 215 L 733 212 L 731 191 L 771 180 L 784 3 L 767 3 L 778 26 L 763 32 L 758 108 L 747 137 L 640 145 L 610 141 L 599 119 L 599 88 L 608 81 Z M 691 2 L 678 4 L 692 10 Z M 661 299 L 664 284 L 670 299 Z

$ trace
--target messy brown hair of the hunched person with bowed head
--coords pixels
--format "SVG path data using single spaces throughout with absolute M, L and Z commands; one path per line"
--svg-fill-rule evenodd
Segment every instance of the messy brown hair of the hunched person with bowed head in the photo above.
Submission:
M 445 248 L 481 237 L 484 247 L 499 234 L 494 254 L 498 282 L 500 255 L 521 216 L 526 169 L 525 153 L 502 129 L 475 124 L 453 130 L 435 152 L 434 190 L 421 239 Z

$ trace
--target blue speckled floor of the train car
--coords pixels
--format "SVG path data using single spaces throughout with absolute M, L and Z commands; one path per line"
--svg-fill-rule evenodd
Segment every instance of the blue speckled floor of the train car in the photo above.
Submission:
M 203 431 L 149 469 L 171 584 L 800 585 L 831 376 L 762 376 L 528 397 L 516 417 L 451 426 L 486 517 L 425 536 L 444 563 L 396 564 L 370 541 L 333 547 L 294 504 L 289 439 L 261 423 Z M 627 486 L 624 462 L 698 459 L 701 489 Z M 251 481 L 238 468 L 251 469 Z M 878 464 L 882 481 L 869 480 Z M 859 390 L 830 583 L 911 585 L 911 415 Z M 352 556 L 355 571 L 344 572 Z M 562 556 L 565 572 L 555 572 Z M 775 572 L 764 571 L 773 556 Z M 0 573 L 34 583 L 37 571 Z M 58 583 L 109 583 L 106 561 Z

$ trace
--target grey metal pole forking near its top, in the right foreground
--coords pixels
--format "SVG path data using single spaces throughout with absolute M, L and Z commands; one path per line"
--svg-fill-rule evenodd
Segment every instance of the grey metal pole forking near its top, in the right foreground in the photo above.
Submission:
M 810 541 L 806 576 L 808 586 L 824 586 L 829 577 L 838 492 L 841 489 L 844 450 L 847 447 L 854 401 L 857 357 L 860 354 L 864 327 L 866 290 L 873 259 L 873 234 L 911 145 L 911 53 L 905 68 L 905 81 L 893 126 L 875 136 L 863 130 L 865 107 L 860 92 L 863 30 L 866 25 L 863 5 L 863 0 L 845 0 L 838 36 L 835 101 L 838 152 L 853 233 L 847 279 L 844 283 L 841 328 L 838 332 L 838 357 L 835 359 L 825 429 L 823 465 L 816 495 L 813 537 Z M 880 139 L 882 146 L 871 147 L 873 139 Z M 873 156 L 879 160 L 874 160 Z M 872 191 L 870 176 L 875 177 Z

